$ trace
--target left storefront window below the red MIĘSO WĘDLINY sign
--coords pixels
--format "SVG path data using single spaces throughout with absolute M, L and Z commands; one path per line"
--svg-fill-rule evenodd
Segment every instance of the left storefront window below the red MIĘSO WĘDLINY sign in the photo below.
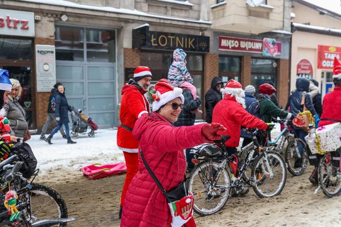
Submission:
M 240 81 L 240 58 L 219 56 L 219 77 L 226 83 L 231 79 Z

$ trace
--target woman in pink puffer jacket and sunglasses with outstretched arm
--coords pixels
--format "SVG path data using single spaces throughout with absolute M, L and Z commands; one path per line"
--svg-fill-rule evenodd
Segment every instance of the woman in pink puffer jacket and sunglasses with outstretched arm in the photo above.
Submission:
M 183 149 L 220 139 L 220 124 L 175 127 L 184 99 L 181 88 L 159 82 L 153 112 L 143 115 L 132 135 L 140 140 L 140 149 L 151 171 L 164 189 L 174 190 L 183 180 L 186 160 Z M 121 226 L 169 226 L 171 213 L 165 196 L 149 175 L 139 154 L 139 172 L 132 179 L 123 205 Z M 193 218 L 186 226 L 196 226 Z

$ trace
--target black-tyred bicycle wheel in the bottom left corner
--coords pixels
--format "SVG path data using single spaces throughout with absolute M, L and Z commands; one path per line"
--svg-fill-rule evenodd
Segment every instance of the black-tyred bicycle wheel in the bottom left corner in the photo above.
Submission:
M 40 183 L 32 183 L 31 185 L 32 188 L 27 193 L 30 201 L 27 218 L 31 219 L 31 223 L 51 218 L 67 218 L 65 201 L 57 191 Z M 66 226 L 66 223 L 57 226 Z

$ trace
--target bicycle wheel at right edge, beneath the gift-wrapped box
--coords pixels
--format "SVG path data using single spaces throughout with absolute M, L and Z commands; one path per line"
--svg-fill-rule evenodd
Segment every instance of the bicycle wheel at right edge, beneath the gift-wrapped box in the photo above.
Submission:
M 332 164 L 330 153 L 318 163 L 318 184 L 328 197 L 338 196 L 341 192 L 340 169 Z

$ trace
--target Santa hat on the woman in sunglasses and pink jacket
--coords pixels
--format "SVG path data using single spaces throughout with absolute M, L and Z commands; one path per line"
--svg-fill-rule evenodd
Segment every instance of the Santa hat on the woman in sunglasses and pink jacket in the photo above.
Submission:
M 173 87 L 169 84 L 164 82 L 158 82 L 155 84 L 156 93 L 153 94 L 153 111 L 157 111 L 160 109 L 161 106 L 166 104 L 167 102 L 175 99 L 180 98 L 181 103 L 183 104 L 185 99 L 182 95 L 182 89 L 179 87 Z

